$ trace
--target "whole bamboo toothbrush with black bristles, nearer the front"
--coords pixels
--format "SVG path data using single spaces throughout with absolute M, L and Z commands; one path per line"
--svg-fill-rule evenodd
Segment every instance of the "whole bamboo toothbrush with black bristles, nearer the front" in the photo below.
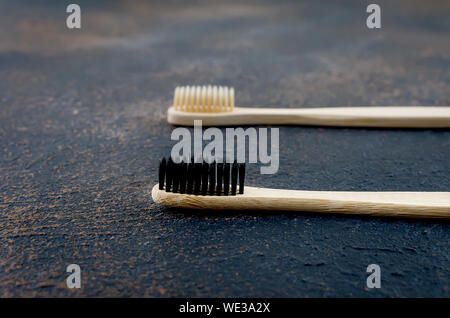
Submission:
M 239 177 L 238 177 L 239 176 Z M 298 191 L 245 187 L 245 165 L 161 160 L 153 200 L 207 210 L 309 211 L 373 216 L 450 218 L 450 192 Z M 245 189 L 245 191 L 244 191 Z

